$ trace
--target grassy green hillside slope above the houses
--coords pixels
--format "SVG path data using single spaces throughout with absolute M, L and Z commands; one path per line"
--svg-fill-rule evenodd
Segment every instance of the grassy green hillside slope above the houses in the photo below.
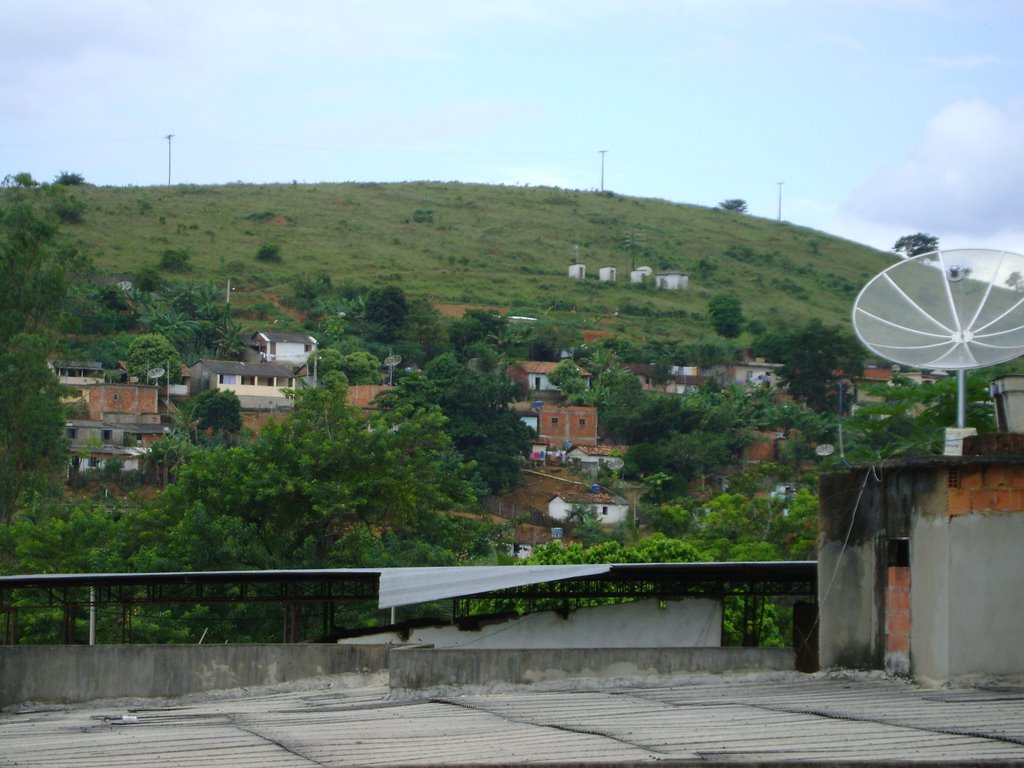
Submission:
M 170 273 L 226 284 L 232 306 L 273 312 L 300 275 L 335 287 L 397 285 L 435 303 L 496 306 L 581 330 L 698 341 L 711 297 L 730 293 L 769 328 L 811 316 L 849 324 L 864 283 L 894 256 L 786 222 L 659 200 L 462 183 L 94 187 L 69 225 L 104 274 L 187 256 Z M 280 261 L 261 261 L 274 246 Z M 567 276 L 579 260 L 586 281 Z M 681 269 L 688 291 L 629 282 Z M 599 283 L 614 266 L 618 281 Z M 294 317 L 282 315 L 284 323 Z

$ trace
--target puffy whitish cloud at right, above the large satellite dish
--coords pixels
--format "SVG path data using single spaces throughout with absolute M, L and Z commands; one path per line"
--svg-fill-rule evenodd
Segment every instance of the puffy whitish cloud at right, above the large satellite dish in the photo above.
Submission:
M 1020 230 L 1024 100 L 962 101 L 933 117 L 906 161 L 862 185 L 840 219 L 863 228 L 991 239 Z

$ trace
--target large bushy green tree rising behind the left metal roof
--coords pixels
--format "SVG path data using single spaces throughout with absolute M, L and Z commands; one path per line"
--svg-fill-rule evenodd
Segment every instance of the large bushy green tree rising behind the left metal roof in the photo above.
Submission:
M 395 545 L 404 550 L 401 531 L 430 537 L 429 523 L 472 503 L 467 469 L 436 411 L 402 410 L 368 422 L 341 391 L 295 396 L 294 414 L 251 442 L 195 452 L 178 469 L 161 498 L 173 529 L 167 564 L 364 564 L 347 559 L 360 549 L 354 542 L 386 549 Z

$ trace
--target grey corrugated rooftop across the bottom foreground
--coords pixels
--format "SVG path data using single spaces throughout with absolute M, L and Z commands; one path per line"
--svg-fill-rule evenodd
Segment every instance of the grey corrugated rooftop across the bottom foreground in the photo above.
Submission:
M 591 683 L 395 693 L 383 675 L 351 676 L 20 705 L 0 713 L 0 766 L 1024 764 L 1024 685 L 798 673 Z

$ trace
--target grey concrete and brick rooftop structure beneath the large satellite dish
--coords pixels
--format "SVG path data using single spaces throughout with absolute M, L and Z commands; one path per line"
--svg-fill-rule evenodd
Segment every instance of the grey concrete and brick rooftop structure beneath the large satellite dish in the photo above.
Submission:
M 1024 675 L 1019 453 L 855 469 L 822 478 L 820 498 L 823 668 L 931 684 Z M 908 569 L 905 585 L 889 583 L 889 566 Z

